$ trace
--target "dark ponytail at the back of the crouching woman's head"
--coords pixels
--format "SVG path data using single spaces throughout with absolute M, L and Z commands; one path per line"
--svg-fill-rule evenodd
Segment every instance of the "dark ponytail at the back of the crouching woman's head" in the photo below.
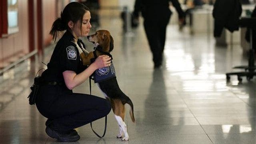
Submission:
M 57 32 L 58 31 L 63 31 L 66 30 L 66 26 L 64 22 L 61 20 L 61 18 L 57 18 L 53 24 L 52 24 L 52 30 L 50 31 L 50 34 L 53 36 L 54 42 L 57 37 Z

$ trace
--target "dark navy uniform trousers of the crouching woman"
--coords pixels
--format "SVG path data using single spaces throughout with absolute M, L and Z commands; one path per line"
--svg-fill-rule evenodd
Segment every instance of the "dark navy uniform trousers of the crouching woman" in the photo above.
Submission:
M 51 128 L 59 132 L 88 124 L 106 116 L 111 110 L 108 100 L 72 93 L 64 86 L 41 86 L 38 93 L 36 106 L 39 112 L 48 118 Z

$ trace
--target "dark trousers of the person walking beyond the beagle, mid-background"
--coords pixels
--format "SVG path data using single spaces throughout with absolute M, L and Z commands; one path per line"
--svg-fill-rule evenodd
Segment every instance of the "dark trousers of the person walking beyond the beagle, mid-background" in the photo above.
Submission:
M 155 66 L 162 64 L 162 54 L 164 51 L 166 39 L 166 26 L 168 20 L 152 21 L 144 20 L 144 29 L 148 38 L 148 44 L 153 54 L 153 62 Z

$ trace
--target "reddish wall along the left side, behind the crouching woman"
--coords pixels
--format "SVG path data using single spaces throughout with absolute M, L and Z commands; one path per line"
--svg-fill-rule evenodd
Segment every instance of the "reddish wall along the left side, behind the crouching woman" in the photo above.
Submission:
M 44 46 L 51 44 L 52 36 L 49 32 L 52 27 L 52 23 L 56 19 L 56 4 L 58 4 L 56 1 L 58 0 L 18 0 L 19 32 L 10 34 L 4 38 L 0 37 L 1 64 L 3 62 L 11 61 L 14 57 L 19 55 L 21 56 L 34 49 L 38 49 L 40 46 L 43 48 Z M 34 8 L 28 7 L 29 2 L 31 3 L 30 6 L 33 5 Z M 7 15 L 6 17 L 2 16 L 3 10 L 6 10 L 7 12 L 7 0 L 0 0 L 0 5 L 1 35 L 1 32 L 3 32 L 2 30 L 4 30 L 3 27 L 6 27 L 5 30 L 7 30 Z M 38 10 L 41 11 L 41 13 L 37 13 Z M 30 14 L 33 12 L 34 14 Z M 38 14 L 40 14 L 41 20 L 38 19 Z M 30 18 L 29 16 L 32 16 L 33 18 Z M 4 25 L 4 22 L 6 22 L 6 25 Z M 32 41 L 34 41 L 34 43 L 32 43 Z

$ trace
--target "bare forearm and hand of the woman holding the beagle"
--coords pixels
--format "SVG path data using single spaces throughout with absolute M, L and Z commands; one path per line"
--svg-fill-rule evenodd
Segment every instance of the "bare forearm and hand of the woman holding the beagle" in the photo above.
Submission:
M 98 58 L 96 58 L 96 60 L 80 74 L 76 74 L 76 72 L 71 70 L 62 72 L 67 88 L 72 90 L 86 81 L 95 70 L 110 66 L 110 60 L 111 58 L 109 56 L 102 55 L 98 56 Z

